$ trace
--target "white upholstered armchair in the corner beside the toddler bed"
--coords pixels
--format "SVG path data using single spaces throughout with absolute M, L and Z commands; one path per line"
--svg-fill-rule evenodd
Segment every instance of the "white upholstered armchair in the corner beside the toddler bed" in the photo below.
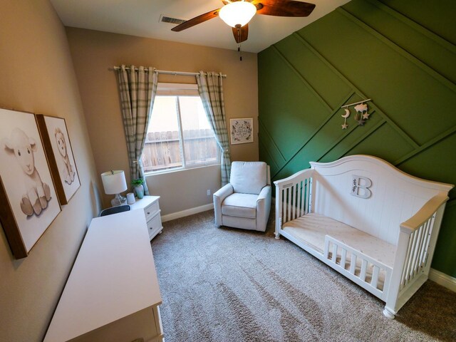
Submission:
M 214 193 L 215 224 L 264 232 L 271 210 L 265 162 L 232 162 L 229 183 Z

